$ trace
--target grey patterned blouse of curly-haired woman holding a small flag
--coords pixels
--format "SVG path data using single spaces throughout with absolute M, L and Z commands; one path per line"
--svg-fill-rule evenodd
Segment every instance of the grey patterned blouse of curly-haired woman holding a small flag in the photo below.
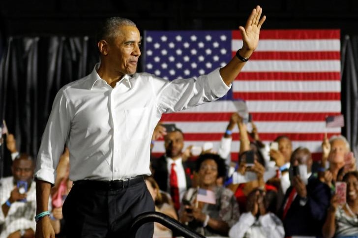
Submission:
M 232 227 L 239 220 L 239 205 L 236 201 L 234 193 L 227 188 L 215 186 L 213 192 L 216 197 L 216 204 L 205 203 L 202 212 L 209 215 L 210 218 L 226 222 L 229 227 Z M 185 192 L 183 199 L 195 204 L 197 188 L 189 188 Z M 183 208 L 182 204 L 180 208 Z M 220 235 L 209 226 L 203 227 L 202 222 L 192 221 L 188 226 L 193 228 L 196 232 L 208 237 Z

